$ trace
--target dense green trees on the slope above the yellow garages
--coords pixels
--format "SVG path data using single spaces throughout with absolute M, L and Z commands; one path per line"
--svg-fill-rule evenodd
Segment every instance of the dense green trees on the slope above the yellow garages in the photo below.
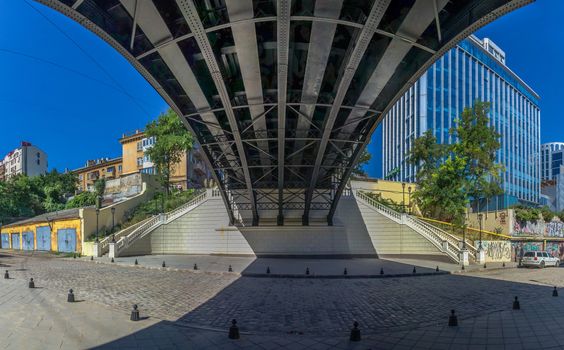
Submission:
M 35 177 L 17 175 L 0 182 L 0 220 L 7 222 L 63 209 L 77 183 L 76 175 L 56 170 Z

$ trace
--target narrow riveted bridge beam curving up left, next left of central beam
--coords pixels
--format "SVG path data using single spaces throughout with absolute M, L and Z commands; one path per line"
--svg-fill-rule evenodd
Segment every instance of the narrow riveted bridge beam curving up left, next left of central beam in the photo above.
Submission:
M 245 182 L 247 185 L 247 191 L 249 193 L 249 198 L 251 201 L 251 211 L 253 216 L 252 225 L 258 225 L 258 212 L 256 208 L 255 194 L 253 192 L 253 184 L 251 181 L 251 175 L 247 166 L 247 155 L 245 152 L 245 147 L 241 141 L 241 134 L 239 133 L 239 126 L 237 124 L 237 119 L 235 118 L 235 113 L 231 108 L 231 100 L 229 99 L 229 94 L 227 93 L 227 88 L 225 87 L 225 80 L 221 76 L 221 71 L 219 70 L 219 65 L 215 59 L 213 50 L 211 48 L 210 41 L 204 30 L 204 26 L 200 21 L 198 11 L 196 6 L 191 0 L 176 0 L 184 19 L 188 23 L 190 30 L 194 33 L 194 39 L 198 43 L 198 46 L 203 54 L 206 65 L 210 71 L 212 79 L 215 83 L 216 89 L 219 92 L 221 98 L 221 103 L 225 108 L 225 114 L 229 120 L 229 125 L 231 131 L 233 132 L 233 137 L 235 139 L 235 144 L 237 146 L 237 153 L 241 159 L 241 165 L 243 166 L 243 173 L 245 174 Z

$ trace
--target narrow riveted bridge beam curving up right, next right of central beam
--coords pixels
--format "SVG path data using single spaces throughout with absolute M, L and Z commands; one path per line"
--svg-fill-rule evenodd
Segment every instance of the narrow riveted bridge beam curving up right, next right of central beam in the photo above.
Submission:
M 309 225 L 309 211 L 311 206 L 311 199 L 313 196 L 313 191 L 315 186 L 317 185 L 317 177 L 319 176 L 319 169 L 321 167 L 321 163 L 325 156 L 325 149 L 327 148 L 329 136 L 333 131 L 333 125 L 335 124 L 335 120 L 337 119 L 337 114 L 339 113 L 339 109 L 343 104 L 343 100 L 345 99 L 345 94 L 347 93 L 349 86 L 351 84 L 352 78 L 360 64 L 360 60 L 362 56 L 364 56 L 364 52 L 368 48 L 368 44 L 374 35 L 374 31 L 378 28 L 378 24 L 380 20 L 384 16 L 386 9 L 390 0 L 382 0 L 375 2 L 370 10 L 370 15 L 366 20 L 366 24 L 362 28 L 362 32 L 360 33 L 358 40 L 356 41 L 356 46 L 353 49 L 351 56 L 346 65 L 345 72 L 339 82 L 339 87 L 337 89 L 337 94 L 335 95 L 335 100 L 333 102 L 333 106 L 331 107 L 331 111 L 329 112 L 329 116 L 325 121 L 325 125 L 323 127 L 323 137 L 321 139 L 321 143 L 319 145 L 319 149 L 317 152 L 317 157 L 315 159 L 315 168 L 313 169 L 313 173 L 311 176 L 311 182 L 309 185 L 309 189 L 306 193 L 306 201 L 305 201 L 305 210 L 304 215 L 302 217 L 302 224 Z

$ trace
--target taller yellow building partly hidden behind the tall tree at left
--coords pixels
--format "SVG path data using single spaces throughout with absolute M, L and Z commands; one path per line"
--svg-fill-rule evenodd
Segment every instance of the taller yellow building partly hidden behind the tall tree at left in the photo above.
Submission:
M 122 145 L 122 175 L 133 173 L 156 174 L 156 168 L 146 152 L 155 143 L 153 137 L 147 137 L 143 131 L 136 130 L 130 135 L 124 134 L 119 140 Z M 204 165 L 201 149 L 195 145 L 186 152 L 180 162 L 173 165 L 170 182 L 173 186 L 186 189 L 200 187 L 210 173 Z

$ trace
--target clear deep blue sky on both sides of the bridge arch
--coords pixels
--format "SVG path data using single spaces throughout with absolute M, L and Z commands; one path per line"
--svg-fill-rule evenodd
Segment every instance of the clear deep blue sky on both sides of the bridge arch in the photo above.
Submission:
M 541 141 L 564 141 L 564 1 L 538 0 L 479 30 L 507 65 L 541 96 Z M 32 0 L 0 0 L 0 155 L 30 141 L 50 167 L 77 168 L 115 157 L 123 132 L 166 110 L 131 65 L 74 21 Z M 381 176 L 381 137 L 369 147 L 371 176 Z

